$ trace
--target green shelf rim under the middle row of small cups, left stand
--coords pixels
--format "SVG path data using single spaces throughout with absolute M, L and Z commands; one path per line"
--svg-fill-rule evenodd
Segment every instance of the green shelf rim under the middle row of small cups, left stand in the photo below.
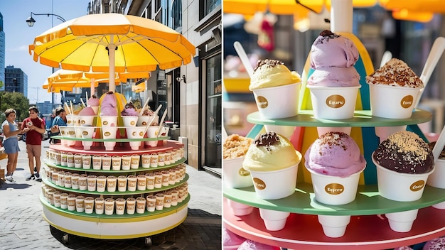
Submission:
M 184 176 L 183 180 L 181 180 L 179 183 L 175 183 L 173 185 L 168 185 L 168 186 L 162 186 L 162 188 L 154 188 L 151 190 L 136 190 L 136 191 L 125 191 L 125 192 L 97 192 L 97 191 L 88 191 L 88 190 L 78 190 L 78 189 L 73 189 L 73 188 L 65 188 L 65 187 L 61 187 L 58 185 L 55 185 L 54 183 L 51 183 L 48 179 L 46 178 L 42 178 L 43 183 L 45 183 L 45 185 L 50 186 L 51 188 L 55 188 L 57 190 L 63 190 L 65 192 L 77 192 L 77 193 L 81 193 L 81 194 L 88 194 L 88 195 L 118 195 L 118 196 L 122 196 L 122 195 L 142 195 L 142 194 L 146 194 L 149 192 L 162 192 L 165 190 L 171 190 L 173 188 L 179 187 L 181 185 L 183 185 L 184 183 L 187 183 L 188 180 L 188 174 L 186 173 L 186 176 Z

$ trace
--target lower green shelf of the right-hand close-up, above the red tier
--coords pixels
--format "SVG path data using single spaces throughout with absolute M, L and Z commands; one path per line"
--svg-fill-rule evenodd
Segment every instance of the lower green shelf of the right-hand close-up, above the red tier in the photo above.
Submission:
M 252 207 L 279 210 L 298 214 L 370 215 L 402 212 L 429 207 L 445 201 L 445 189 L 426 186 L 420 200 L 397 202 L 379 195 L 377 185 L 359 185 L 357 196 L 346 205 L 325 205 L 315 200 L 310 183 L 298 183 L 293 195 L 279 200 L 262 200 L 255 195 L 254 187 L 223 189 L 224 196 Z

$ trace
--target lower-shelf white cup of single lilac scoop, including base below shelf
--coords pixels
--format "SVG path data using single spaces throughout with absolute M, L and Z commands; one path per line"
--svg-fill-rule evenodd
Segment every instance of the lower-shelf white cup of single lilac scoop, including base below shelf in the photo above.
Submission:
M 309 146 L 304 158 L 311 173 L 316 201 L 343 205 L 355 200 L 366 161 L 353 138 L 338 131 L 323 134 Z M 318 215 L 318 222 L 327 237 L 342 237 L 350 215 Z

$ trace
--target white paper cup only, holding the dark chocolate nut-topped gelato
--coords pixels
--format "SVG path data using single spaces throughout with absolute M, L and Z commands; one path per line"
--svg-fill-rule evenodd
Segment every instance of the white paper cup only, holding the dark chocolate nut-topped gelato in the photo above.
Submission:
M 424 192 L 428 175 L 434 172 L 434 169 L 428 173 L 397 173 L 393 170 L 383 168 L 374 160 L 377 167 L 377 186 L 382 197 L 398 202 L 413 202 L 419 200 Z

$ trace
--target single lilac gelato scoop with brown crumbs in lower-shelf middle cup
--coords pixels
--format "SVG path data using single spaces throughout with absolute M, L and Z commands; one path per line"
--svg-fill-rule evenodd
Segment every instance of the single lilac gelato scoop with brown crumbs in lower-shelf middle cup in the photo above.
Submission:
M 304 155 L 306 168 L 322 175 L 348 177 L 363 170 L 366 161 L 357 143 L 343 132 L 318 137 Z

